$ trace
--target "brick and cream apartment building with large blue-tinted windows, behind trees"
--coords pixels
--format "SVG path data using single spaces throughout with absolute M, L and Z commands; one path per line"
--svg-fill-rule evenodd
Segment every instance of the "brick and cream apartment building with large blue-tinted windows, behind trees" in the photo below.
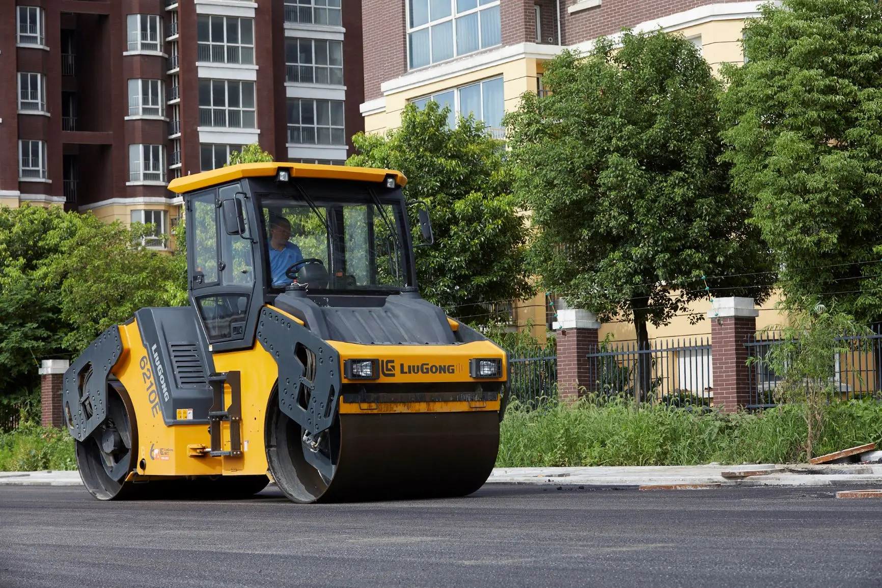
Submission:
M 716 70 L 723 62 L 743 62 L 744 19 L 759 16 L 760 4 L 363 0 L 364 128 L 385 132 L 400 124 L 407 102 L 435 100 L 451 107 L 451 122 L 472 112 L 502 138 L 505 112 L 517 108 L 521 94 L 542 90 L 543 62 L 563 49 L 590 49 L 598 37 L 619 34 L 624 27 L 662 28 L 691 40 Z M 543 339 L 557 303 L 540 295 L 503 306 L 511 310 L 512 325 L 532 321 L 534 335 Z M 604 329 L 601 336 L 609 330 Z

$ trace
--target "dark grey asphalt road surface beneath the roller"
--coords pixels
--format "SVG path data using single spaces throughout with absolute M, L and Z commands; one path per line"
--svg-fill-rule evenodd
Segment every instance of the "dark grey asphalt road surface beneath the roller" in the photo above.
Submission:
M 99 502 L 0 486 L 0 586 L 882 586 L 882 501 L 836 489 L 488 485 L 301 506 L 273 489 Z

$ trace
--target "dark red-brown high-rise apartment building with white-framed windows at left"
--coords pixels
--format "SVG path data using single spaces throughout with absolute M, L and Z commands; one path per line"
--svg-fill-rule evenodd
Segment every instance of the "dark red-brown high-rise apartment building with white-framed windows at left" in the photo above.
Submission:
M 168 181 L 221 167 L 243 145 L 342 163 L 363 129 L 361 9 L 4 0 L 0 206 L 64 204 L 167 235 L 179 209 Z

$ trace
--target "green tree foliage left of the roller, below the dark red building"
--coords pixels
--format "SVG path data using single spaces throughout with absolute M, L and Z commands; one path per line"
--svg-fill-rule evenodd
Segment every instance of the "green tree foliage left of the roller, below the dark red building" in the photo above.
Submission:
M 60 207 L 0 207 L 0 393 L 32 388 L 39 358 L 70 357 L 142 306 L 186 304 L 185 261 L 131 230 Z

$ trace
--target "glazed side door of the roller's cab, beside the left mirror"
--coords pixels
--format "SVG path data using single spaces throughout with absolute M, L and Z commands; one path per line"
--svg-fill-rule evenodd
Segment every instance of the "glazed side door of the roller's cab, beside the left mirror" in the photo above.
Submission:
M 236 183 L 194 194 L 187 208 L 191 304 L 213 351 L 249 349 L 254 343 L 262 290 L 245 199 Z M 241 225 L 224 214 L 230 208 L 241 211 Z

